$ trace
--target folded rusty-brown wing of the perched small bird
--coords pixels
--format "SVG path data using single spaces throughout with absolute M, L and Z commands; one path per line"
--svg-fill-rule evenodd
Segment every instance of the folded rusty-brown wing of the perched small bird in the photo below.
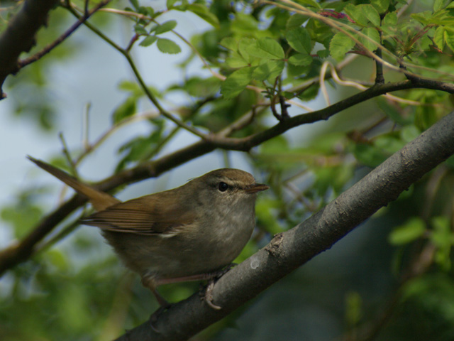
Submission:
M 112 232 L 173 237 L 190 228 L 196 215 L 188 205 L 169 204 L 162 196 L 146 195 L 121 202 L 82 220 Z

